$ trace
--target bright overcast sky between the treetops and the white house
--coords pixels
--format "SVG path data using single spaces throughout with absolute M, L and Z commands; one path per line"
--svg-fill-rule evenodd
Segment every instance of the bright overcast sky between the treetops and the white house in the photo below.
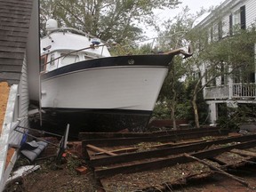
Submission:
M 172 10 L 161 10 L 161 11 L 156 11 L 156 16 L 161 18 L 161 20 L 168 20 L 175 15 L 177 15 L 179 12 L 182 11 L 182 8 L 186 7 L 188 5 L 188 8 L 191 13 L 196 14 L 196 12 L 199 12 L 202 7 L 205 9 L 210 8 L 212 5 L 220 5 L 223 3 L 225 0 L 180 0 L 182 4 L 179 4 L 179 6 L 176 9 Z M 148 37 L 156 37 L 157 34 L 153 31 L 148 31 L 147 32 Z

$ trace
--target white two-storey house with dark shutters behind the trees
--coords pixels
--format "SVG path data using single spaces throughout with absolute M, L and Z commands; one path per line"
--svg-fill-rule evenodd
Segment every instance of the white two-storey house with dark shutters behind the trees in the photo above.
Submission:
M 221 41 L 223 38 L 233 36 L 236 34 L 236 28 L 252 28 L 252 25 L 256 24 L 255 11 L 255 0 L 226 0 L 214 12 L 200 21 L 196 28 L 207 28 L 208 43 L 211 44 L 212 41 Z M 255 52 L 256 46 L 254 43 L 254 54 Z M 205 72 L 207 68 L 205 66 L 205 63 L 201 66 L 201 72 Z M 243 73 L 243 71 L 240 72 Z M 249 82 L 246 84 L 243 84 L 241 78 L 218 76 L 214 84 L 207 85 L 204 88 L 204 99 L 209 104 L 210 121 L 212 123 L 218 119 L 220 106 L 223 104 L 233 107 L 250 104 L 251 107 L 255 105 L 254 108 L 256 108 L 255 74 L 256 68 L 248 76 Z M 205 84 L 205 77 L 202 84 Z

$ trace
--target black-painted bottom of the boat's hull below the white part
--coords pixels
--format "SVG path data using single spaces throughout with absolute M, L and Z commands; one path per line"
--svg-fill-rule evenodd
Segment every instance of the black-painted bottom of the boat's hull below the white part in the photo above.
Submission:
M 145 132 L 151 111 L 138 110 L 84 110 L 44 108 L 41 130 L 63 134 L 69 124 L 69 138 L 78 138 L 79 132 Z M 39 128 L 39 121 L 31 121 Z

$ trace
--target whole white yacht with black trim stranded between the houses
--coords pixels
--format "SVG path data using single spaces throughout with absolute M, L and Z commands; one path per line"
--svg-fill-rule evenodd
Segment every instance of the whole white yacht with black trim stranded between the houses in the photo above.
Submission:
M 41 106 L 47 124 L 80 131 L 143 129 L 172 58 L 184 50 L 112 57 L 108 44 L 46 23 L 41 39 Z M 187 56 L 189 55 L 189 52 Z M 43 123 L 44 124 L 44 123 Z

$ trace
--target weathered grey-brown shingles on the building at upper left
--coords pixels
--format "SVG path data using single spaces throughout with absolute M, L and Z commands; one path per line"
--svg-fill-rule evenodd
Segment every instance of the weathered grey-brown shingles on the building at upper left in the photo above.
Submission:
M 33 0 L 0 0 L 0 82 L 19 84 Z

